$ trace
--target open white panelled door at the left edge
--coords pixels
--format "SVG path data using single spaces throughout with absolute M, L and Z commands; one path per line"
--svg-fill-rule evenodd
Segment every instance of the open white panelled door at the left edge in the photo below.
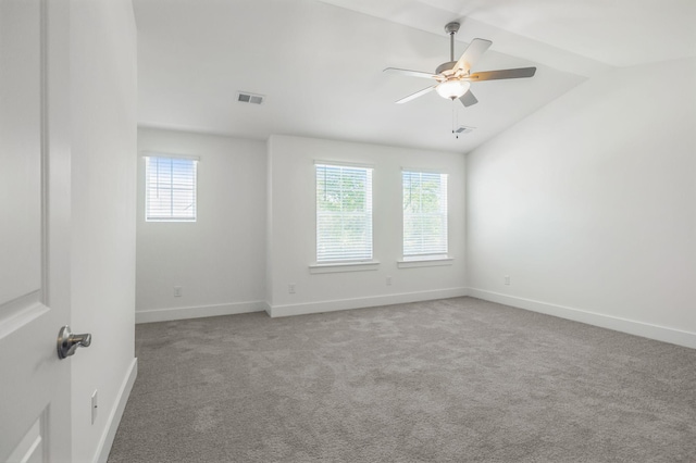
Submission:
M 69 2 L 0 0 L 0 461 L 70 461 Z

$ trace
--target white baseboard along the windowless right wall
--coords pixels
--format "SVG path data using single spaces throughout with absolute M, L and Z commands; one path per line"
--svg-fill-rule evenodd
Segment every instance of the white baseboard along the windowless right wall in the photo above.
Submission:
M 511 305 L 518 309 L 525 309 L 533 312 L 572 320 L 574 322 L 586 323 L 601 328 L 613 329 L 614 331 L 627 333 L 630 335 L 642 336 L 644 338 L 696 349 L 696 333 L 682 331 L 674 328 L 620 318 L 596 312 L 587 312 L 581 309 L 549 304 L 547 302 L 518 298 L 484 289 L 469 288 L 469 296 L 490 302 Z

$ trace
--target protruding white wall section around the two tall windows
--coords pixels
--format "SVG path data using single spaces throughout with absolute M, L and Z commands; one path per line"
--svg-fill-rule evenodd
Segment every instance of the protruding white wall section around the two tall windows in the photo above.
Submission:
M 464 293 L 463 154 L 274 135 L 269 140 L 266 301 L 273 316 L 352 309 Z M 376 271 L 311 274 L 315 263 L 314 161 L 370 164 Z M 401 259 L 401 167 L 449 174 L 452 264 L 398 268 Z M 393 285 L 386 285 L 386 277 Z M 296 293 L 288 285 L 296 285 Z

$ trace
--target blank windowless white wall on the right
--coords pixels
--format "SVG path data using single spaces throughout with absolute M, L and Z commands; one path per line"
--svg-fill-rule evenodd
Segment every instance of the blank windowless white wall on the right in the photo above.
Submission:
M 471 293 L 696 347 L 694 83 L 619 70 L 470 153 Z

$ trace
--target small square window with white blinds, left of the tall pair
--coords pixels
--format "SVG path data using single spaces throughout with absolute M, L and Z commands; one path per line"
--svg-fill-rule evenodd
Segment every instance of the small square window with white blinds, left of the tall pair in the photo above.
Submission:
M 145 164 L 145 220 L 196 222 L 198 160 L 148 155 Z

